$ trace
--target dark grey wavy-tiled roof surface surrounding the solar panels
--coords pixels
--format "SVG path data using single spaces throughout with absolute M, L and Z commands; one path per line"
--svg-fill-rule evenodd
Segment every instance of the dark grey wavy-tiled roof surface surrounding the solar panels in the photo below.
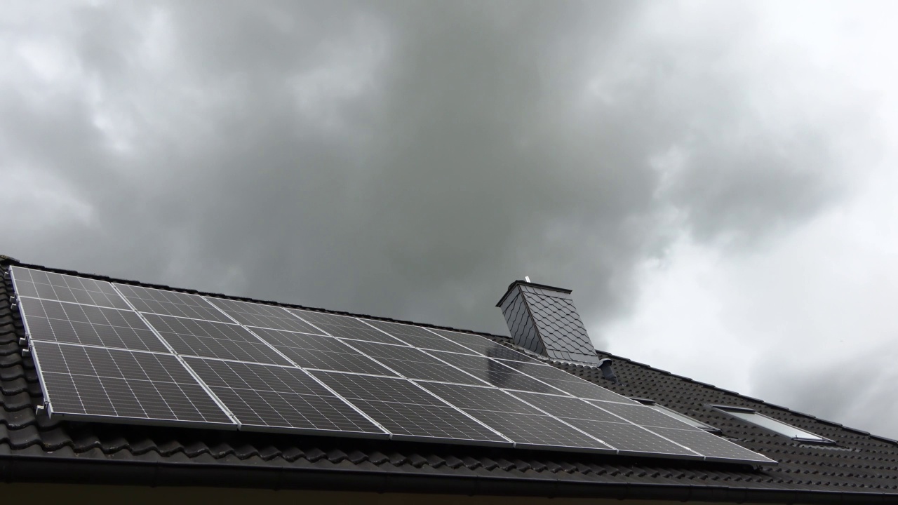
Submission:
M 4 258 L 0 263 L 5 270 L 12 261 Z M 172 289 L 40 265 L 22 266 Z M 2 279 L 0 480 L 4 482 L 228 483 L 269 489 L 898 503 L 898 442 L 603 352 L 599 352 L 600 358 L 612 360 L 620 384 L 603 379 L 598 368 L 553 364 L 616 393 L 650 398 L 708 423 L 726 438 L 776 459 L 779 465 L 756 468 L 503 447 L 50 420 L 35 412 L 43 399 L 31 359 L 22 356 L 19 339 L 24 332 L 18 311 L 10 303 L 12 295 L 10 280 Z M 478 334 L 515 347 L 508 337 Z M 715 411 L 709 404 L 752 408 L 837 445 L 814 446 L 786 439 Z

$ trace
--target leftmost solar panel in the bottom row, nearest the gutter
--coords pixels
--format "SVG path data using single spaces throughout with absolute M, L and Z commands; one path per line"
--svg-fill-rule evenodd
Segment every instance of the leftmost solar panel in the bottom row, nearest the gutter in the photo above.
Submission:
M 233 425 L 170 354 L 44 341 L 31 346 L 52 414 Z

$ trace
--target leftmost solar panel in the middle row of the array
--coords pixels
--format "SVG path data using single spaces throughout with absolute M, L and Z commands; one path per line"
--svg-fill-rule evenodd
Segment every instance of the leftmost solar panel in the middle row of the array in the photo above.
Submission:
M 133 311 L 19 297 L 31 339 L 168 351 Z

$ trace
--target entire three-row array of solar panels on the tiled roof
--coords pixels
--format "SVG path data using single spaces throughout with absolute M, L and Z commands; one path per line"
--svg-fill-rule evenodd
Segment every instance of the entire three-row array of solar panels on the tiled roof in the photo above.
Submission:
M 51 415 L 773 463 L 479 335 L 11 270 Z

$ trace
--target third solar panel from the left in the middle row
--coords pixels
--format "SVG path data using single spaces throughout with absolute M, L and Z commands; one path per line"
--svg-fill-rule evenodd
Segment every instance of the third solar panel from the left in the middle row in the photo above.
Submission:
M 394 375 L 373 359 L 363 356 L 333 337 L 265 328 L 254 328 L 253 332 L 300 367 L 382 376 Z

